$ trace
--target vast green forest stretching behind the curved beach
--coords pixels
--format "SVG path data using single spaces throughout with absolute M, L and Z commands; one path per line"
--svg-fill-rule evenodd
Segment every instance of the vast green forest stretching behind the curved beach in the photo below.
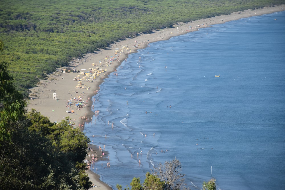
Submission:
M 2 0 L 1 58 L 24 97 L 72 58 L 177 22 L 285 4 L 285 0 Z

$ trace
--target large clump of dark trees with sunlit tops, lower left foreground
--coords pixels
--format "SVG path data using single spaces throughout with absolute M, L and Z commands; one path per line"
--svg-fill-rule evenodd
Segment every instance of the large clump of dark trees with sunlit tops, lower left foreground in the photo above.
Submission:
M 89 139 L 68 121 L 52 124 L 33 110 L 9 130 L 11 141 L 0 146 L 0 189 L 90 187 L 82 163 Z

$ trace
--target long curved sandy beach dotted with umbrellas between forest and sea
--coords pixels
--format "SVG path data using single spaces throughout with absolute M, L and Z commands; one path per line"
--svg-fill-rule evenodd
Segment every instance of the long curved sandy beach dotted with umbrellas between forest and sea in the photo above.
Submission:
M 140 33 L 135 38 L 115 42 L 106 49 L 88 53 L 79 59 L 74 58 L 67 67 L 59 68 L 50 74 L 47 80 L 41 80 L 37 87 L 30 89 L 27 111 L 35 109 L 48 117 L 51 122 L 60 122 L 66 117 L 70 117 L 75 127 L 80 127 L 83 131 L 85 125 L 90 122 L 94 124 L 95 120 L 92 117 L 100 111 L 96 109 L 96 100 L 92 100 L 92 97 L 100 90 L 99 85 L 108 75 L 118 74 L 116 68 L 129 54 L 137 52 L 137 49 L 146 48 L 152 42 L 168 40 L 173 36 L 186 34 L 213 24 L 283 10 L 285 10 L 285 5 L 247 10 L 190 23 L 178 23 L 173 28 L 154 30 L 151 34 Z M 98 147 L 94 147 L 94 149 L 96 148 L 98 149 Z M 90 181 L 97 185 L 96 188 L 112 189 L 101 182 L 97 174 L 90 170 L 86 173 L 90 177 Z

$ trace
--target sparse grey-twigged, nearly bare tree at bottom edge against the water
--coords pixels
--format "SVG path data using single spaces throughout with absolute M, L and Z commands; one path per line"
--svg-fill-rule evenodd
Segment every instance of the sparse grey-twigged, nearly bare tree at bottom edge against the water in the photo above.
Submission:
M 163 165 L 158 164 L 158 167 L 154 167 L 152 173 L 165 181 L 166 190 L 178 190 L 185 188 L 184 175 L 180 173 L 182 170 L 181 163 L 176 158 L 170 162 L 166 161 Z

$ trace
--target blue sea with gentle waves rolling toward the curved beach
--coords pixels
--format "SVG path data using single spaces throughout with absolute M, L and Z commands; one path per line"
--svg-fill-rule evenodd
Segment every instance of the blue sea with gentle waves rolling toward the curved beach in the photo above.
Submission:
M 113 189 L 133 177 L 143 183 L 150 168 L 176 158 L 192 190 L 211 177 L 221 190 L 283 189 L 284 31 L 282 11 L 129 55 L 100 85 L 93 97 L 100 113 L 84 130 L 110 153 L 111 167 L 95 164 L 101 180 Z

